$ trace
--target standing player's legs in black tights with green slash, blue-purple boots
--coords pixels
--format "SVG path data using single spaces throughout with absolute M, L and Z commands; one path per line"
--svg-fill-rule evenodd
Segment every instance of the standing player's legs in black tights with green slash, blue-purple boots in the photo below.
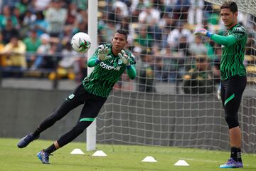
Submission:
M 228 123 L 231 154 L 230 160 L 222 168 L 242 167 L 241 156 L 241 131 L 238 122 L 238 110 L 240 107 L 242 93 L 245 90 L 246 77 L 235 77 L 224 81 L 224 109 L 225 120 Z

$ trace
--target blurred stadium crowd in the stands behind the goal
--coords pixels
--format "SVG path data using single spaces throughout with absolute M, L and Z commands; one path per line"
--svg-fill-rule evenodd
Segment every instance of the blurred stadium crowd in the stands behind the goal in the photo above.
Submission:
M 196 56 L 206 56 L 218 82 L 221 47 L 193 35 L 202 26 L 223 33 L 218 6 L 203 0 L 105 0 L 99 1 L 98 8 L 98 43 L 111 41 L 117 28 L 127 30 L 128 48 L 137 56 L 142 84 L 182 81 L 196 67 Z M 57 70 L 60 77 L 80 81 L 87 74 L 86 54 L 70 46 L 75 33 L 87 33 L 87 0 L 3 0 L 0 9 L 4 77 L 34 76 L 40 71 L 39 76 L 55 78 Z M 256 19 L 242 13 L 238 19 L 248 31 L 246 55 L 255 56 Z

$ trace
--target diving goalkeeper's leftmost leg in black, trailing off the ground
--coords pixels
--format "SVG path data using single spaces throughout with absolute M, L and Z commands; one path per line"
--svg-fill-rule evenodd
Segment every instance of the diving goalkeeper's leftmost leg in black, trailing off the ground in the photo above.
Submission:
M 17 146 L 19 148 L 26 147 L 33 140 L 38 139 L 40 133 L 42 133 L 47 128 L 50 128 L 56 121 L 67 115 L 70 110 L 73 110 L 73 108 L 81 105 L 85 101 L 84 93 L 85 91 L 83 90 L 82 85 L 78 86 L 78 88 L 76 88 L 75 91 L 64 100 L 64 102 L 57 110 L 55 110 L 51 115 L 43 120 L 43 122 L 38 126 L 38 128 L 36 128 L 33 133 L 26 135 L 24 138 L 21 138 Z

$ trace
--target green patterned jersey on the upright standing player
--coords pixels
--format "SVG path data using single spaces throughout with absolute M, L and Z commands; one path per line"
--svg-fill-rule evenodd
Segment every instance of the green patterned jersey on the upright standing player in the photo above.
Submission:
M 230 46 L 223 46 L 220 61 L 220 76 L 222 80 L 233 76 L 246 76 L 245 66 L 243 65 L 247 41 L 245 28 L 240 24 L 236 24 L 225 32 L 225 36 L 230 35 L 235 37 L 235 41 Z

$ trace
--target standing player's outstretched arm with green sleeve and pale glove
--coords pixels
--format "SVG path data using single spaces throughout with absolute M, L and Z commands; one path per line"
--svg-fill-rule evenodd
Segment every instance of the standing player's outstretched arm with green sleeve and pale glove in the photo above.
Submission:
M 235 38 L 235 36 L 233 36 L 233 35 L 220 36 L 215 33 L 210 33 L 210 31 L 207 31 L 205 28 L 198 29 L 195 32 L 195 34 L 201 35 L 201 36 L 208 36 L 210 39 L 212 39 L 216 43 L 219 43 L 223 46 L 231 46 L 237 41 L 237 38 Z

